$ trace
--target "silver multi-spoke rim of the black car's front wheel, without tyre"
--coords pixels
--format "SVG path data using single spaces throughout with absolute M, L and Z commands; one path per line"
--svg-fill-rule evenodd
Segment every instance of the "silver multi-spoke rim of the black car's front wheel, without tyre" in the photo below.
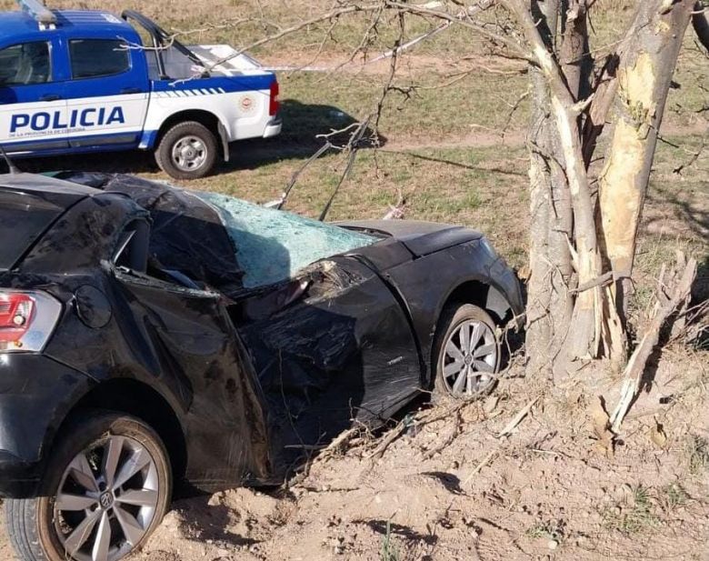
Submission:
M 497 367 L 494 331 L 477 320 L 455 327 L 444 345 L 441 368 L 445 388 L 455 397 L 478 396 L 494 382 Z

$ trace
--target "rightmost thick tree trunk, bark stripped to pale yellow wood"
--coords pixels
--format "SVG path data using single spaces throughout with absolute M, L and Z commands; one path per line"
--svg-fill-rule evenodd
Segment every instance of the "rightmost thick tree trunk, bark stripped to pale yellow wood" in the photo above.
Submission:
M 617 70 L 617 118 L 599 194 L 604 256 L 617 279 L 607 291 L 622 316 L 657 131 L 693 9 L 694 0 L 644 0 Z

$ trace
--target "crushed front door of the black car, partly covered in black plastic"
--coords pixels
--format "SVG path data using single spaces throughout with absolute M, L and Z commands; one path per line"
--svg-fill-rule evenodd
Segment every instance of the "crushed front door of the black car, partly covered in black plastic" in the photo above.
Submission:
M 274 301 L 288 304 L 271 313 Z M 354 420 L 384 421 L 420 390 L 407 315 L 382 278 L 354 257 L 311 265 L 275 293 L 246 298 L 232 314 L 283 454 L 322 444 Z

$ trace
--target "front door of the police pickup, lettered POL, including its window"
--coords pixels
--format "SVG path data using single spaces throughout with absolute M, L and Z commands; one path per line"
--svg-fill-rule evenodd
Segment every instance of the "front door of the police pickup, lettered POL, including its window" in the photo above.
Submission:
M 0 145 L 7 152 L 68 145 L 63 85 L 55 81 L 55 39 L 0 47 Z

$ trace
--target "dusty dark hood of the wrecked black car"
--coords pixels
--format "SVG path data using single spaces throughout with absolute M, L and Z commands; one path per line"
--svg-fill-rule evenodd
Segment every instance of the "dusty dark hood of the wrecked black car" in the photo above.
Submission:
M 354 220 L 337 225 L 351 230 L 388 235 L 401 242 L 416 257 L 464 244 L 483 235 L 460 225 L 420 222 L 416 220 Z

